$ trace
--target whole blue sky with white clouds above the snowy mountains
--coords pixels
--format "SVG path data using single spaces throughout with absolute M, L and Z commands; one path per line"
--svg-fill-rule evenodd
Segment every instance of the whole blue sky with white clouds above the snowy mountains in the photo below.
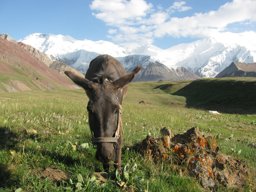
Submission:
M 0 33 L 52 33 L 167 49 L 256 32 L 256 0 L 0 0 Z

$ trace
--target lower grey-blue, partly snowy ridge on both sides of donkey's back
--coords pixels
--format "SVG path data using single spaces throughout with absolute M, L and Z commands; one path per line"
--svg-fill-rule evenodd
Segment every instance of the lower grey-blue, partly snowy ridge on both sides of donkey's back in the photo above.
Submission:
M 81 73 L 85 74 L 88 70 L 90 61 L 96 58 L 99 53 L 89 52 L 86 50 L 78 50 L 75 52 L 66 53 L 64 55 L 51 56 L 53 60 L 68 64 Z M 179 81 L 199 79 L 184 67 L 174 66 L 166 67 L 153 57 L 146 55 L 128 55 L 125 57 L 116 57 L 127 72 L 132 71 L 137 66 L 142 66 L 140 72 L 136 75 L 134 81 Z

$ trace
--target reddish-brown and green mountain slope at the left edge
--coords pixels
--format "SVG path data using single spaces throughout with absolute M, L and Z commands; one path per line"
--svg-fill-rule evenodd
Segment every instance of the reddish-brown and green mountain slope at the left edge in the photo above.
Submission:
M 50 69 L 43 62 L 49 62 L 49 58 L 44 59 L 38 50 L 24 43 L 8 40 L 12 40 L 8 35 L 0 38 L 0 92 L 79 88 Z

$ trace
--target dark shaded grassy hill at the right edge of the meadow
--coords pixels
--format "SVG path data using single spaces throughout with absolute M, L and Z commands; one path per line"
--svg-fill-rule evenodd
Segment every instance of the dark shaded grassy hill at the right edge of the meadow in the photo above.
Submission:
M 253 77 L 198 79 L 172 95 L 185 97 L 189 108 L 256 113 L 256 78 Z

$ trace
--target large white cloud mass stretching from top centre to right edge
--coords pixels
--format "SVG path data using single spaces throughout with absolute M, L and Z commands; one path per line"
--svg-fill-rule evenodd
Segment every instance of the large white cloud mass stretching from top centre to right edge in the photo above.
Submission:
M 256 0 L 233 0 L 216 11 L 172 17 L 174 12 L 192 9 L 185 5 L 177 1 L 168 9 L 158 5 L 155 10 L 145 0 L 94 0 L 90 8 L 96 18 L 112 26 L 108 38 L 122 45 L 152 44 L 154 38 L 164 36 L 217 37 L 228 32 L 229 24 L 256 22 Z

